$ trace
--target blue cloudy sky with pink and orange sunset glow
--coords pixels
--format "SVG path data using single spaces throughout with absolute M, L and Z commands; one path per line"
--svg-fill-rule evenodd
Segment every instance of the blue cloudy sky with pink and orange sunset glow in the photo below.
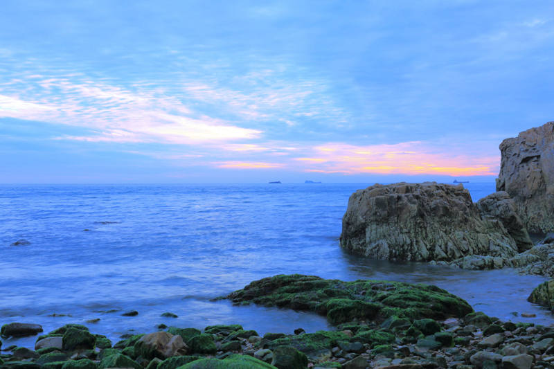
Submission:
M 553 59 L 550 0 L 3 0 L 0 183 L 494 181 Z

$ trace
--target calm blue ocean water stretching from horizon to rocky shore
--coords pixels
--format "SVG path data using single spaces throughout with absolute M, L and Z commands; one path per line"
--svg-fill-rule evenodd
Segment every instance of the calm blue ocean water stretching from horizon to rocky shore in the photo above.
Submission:
M 341 251 L 348 197 L 369 185 L 0 186 L 0 324 L 39 323 L 48 331 L 100 318 L 87 325 L 114 340 L 131 330 L 152 332 L 159 323 L 240 323 L 260 334 L 328 328 L 314 314 L 210 301 L 278 273 L 425 282 L 492 316 L 554 323 L 526 302 L 544 278 Z M 494 183 L 465 186 L 474 201 L 494 192 Z M 20 239 L 30 244 L 10 246 Z M 139 315 L 120 315 L 129 309 Z M 162 318 L 163 312 L 179 318 Z

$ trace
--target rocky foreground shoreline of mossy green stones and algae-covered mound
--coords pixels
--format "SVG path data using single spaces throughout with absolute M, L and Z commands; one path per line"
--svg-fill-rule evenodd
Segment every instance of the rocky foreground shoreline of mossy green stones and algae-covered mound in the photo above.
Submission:
M 158 332 L 111 343 L 69 324 L 37 337 L 34 350 L 1 347 L 1 369 L 190 368 L 554 368 L 554 328 L 502 322 L 474 312 L 443 289 L 400 282 L 343 282 L 315 276 L 274 276 L 222 298 L 237 305 L 313 311 L 336 330 L 294 334 L 240 325 L 159 326 Z M 42 333 L 8 323 L 3 336 Z

